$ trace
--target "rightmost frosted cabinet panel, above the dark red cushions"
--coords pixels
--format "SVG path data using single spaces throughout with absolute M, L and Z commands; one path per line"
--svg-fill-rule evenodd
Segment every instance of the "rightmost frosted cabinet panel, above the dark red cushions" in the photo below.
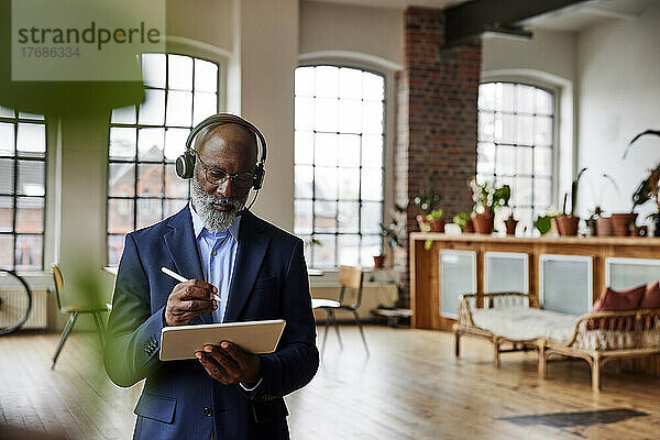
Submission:
M 615 290 L 660 280 L 660 260 L 606 258 L 605 284 Z

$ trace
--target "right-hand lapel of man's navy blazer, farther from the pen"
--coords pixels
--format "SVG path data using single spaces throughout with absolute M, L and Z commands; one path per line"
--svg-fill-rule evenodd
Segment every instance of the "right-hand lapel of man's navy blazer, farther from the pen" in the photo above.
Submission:
M 264 224 L 252 212 L 245 211 L 241 219 L 239 249 L 224 310 L 226 322 L 235 321 L 243 310 L 270 241 L 271 238 L 265 234 Z

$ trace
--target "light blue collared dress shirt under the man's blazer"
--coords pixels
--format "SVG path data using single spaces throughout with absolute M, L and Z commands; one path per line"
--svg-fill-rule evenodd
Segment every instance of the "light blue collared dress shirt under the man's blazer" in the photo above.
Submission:
M 193 230 L 201 260 L 204 279 L 218 287 L 218 295 L 221 299 L 218 310 L 213 311 L 213 321 L 222 322 L 239 248 L 241 217 L 237 217 L 227 231 L 211 232 L 204 226 L 201 217 L 195 212 L 193 204 L 190 204 L 190 215 L 193 216 Z

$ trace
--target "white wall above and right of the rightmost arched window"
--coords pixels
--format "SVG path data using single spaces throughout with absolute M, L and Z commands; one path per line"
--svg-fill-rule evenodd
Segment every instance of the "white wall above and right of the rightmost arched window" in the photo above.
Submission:
M 534 30 L 529 41 L 503 37 L 484 38 L 482 80 L 517 80 L 554 89 L 556 170 L 553 200 L 560 207 L 563 193 L 570 191 L 575 173 L 576 145 L 576 36 L 572 32 Z

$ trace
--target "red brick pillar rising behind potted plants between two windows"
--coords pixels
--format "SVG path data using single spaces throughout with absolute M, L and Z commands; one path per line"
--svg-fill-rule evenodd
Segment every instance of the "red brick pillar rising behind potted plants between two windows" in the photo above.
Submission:
M 441 10 L 409 8 L 404 14 L 405 61 L 397 82 L 395 200 L 413 200 L 436 173 L 448 221 L 472 208 L 468 180 L 476 174 L 476 100 L 481 43 L 443 48 Z M 408 210 L 408 231 L 417 231 L 417 210 Z M 409 294 L 409 266 L 404 298 Z

